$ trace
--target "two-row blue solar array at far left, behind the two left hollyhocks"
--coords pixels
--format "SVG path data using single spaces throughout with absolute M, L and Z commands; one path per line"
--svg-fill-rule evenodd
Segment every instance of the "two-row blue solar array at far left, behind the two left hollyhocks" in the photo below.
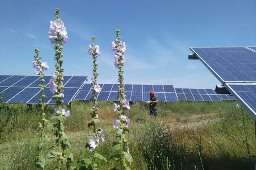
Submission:
M 47 87 L 44 91 L 46 95 L 44 102 L 55 104 L 55 100 L 51 99 L 53 93 L 49 89 L 50 78 L 51 76 L 44 76 L 44 85 Z M 62 100 L 63 104 L 69 104 L 86 81 L 87 76 L 64 76 L 63 78 L 65 89 Z M 39 84 L 41 84 L 39 76 L 0 75 L 0 93 L 4 95 L 3 103 L 39 103 L 41 95 Z

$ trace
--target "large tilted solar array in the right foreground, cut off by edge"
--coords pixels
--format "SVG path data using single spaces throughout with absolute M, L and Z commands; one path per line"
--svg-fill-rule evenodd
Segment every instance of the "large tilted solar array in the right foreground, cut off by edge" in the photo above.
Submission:
M 190 50 L 256 120 L 256 47 L 190 47 Z

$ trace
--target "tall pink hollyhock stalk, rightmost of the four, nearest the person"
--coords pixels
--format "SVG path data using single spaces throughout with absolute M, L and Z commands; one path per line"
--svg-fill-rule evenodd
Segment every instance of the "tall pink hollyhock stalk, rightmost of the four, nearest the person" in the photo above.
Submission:
M 124 42 L 120 41 L 121 37 L 119 37 L 120 31 L 116 29 L 116 40 L 112 41 L 111 43 L 111 50 L 116 51 L 115 52 L 115 62 L 114 66 L 115 68 L 118 68 L 118 82 L 120 85 L 118 86 L 118 98 L 119 103 L 114 104 L 114 112 L 117 111 L 118 113 L 118 119 L 113 121 L 113 127 L 117 129 L 116 136 L 119 138 L 119 142 L 113 143 L 113 148 L 116 150 L 120 150 L 119 154 L 115 154 L 114 156 L 111 156 L 110 159 L 119 160 L 120 162 L 120 168 L 115 167 L 114 169 L 120 169 L 120 170 L 129 170 L 129 166 L 125 163 L 125 160 L 129 163 L 132 162 L 132 156 L 129 152 L 128 147 L 128 141 L 125 139 L 125 132 L 129 132 L 129 125 L 131 124 L 130 119 L 127 118 L 126 113 L 124 112 L 126 109 L 130 109 L 129 101 L 127 100 L 125 94 L 124 94 L 124 70 L 123 66 L 125 63 L 124 60 L 124 54 L 126 51 L 126 45 Z

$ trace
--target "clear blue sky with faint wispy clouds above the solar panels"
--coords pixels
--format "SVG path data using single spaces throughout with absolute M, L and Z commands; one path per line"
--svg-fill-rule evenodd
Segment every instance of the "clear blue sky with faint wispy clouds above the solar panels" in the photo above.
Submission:
M 256 46 L 255 0 L 18 1 L 0 2 L 0 74 L 34 75 L 36 47 L 54 72 L 48 39 L 56 7 L 68 31 L 63 49 L 64 75 L 92 76 L 87 54 L 96 37 L 99 83 L 117 83 L 111 41 L 116 28 L 127 45 L 126 84 L 170 84 L 175 88 L 212 88 L 220 82 L 189 47 Z M 89 79 L 88 78 L 88 79 Z

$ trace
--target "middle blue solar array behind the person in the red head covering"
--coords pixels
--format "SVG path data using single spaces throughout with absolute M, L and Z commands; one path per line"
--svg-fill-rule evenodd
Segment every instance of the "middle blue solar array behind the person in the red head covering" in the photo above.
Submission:
M 118 101 L 119 84 L 99 84 L 102 89 L 98 93 L 99 101 Z M 85 84 L 79 91 L 75 100 L 90 100 L 92 84 Z M 178 102 L 177 94 L 173 85 L 142 85 L 142 84 L 126 84 L 124 86 L 125 95 L 128 101 L 146 102 L 150 100 L 150 91 L 154 90 L 158 96 L 159 102 Z

